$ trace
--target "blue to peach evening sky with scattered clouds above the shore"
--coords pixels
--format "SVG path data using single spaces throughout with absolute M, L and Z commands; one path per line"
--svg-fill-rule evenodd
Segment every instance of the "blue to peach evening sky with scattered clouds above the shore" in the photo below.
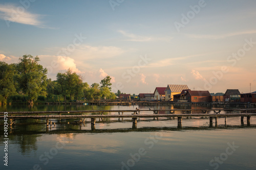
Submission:
M 48 78 L 72 71 L 112 91 L 256 90 L 256 1 L 1 1 L 0 61 L 38 56 Z

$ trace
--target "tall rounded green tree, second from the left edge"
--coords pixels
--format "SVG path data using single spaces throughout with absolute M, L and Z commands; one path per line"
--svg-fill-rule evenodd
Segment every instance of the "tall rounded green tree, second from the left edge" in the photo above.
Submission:
M 16 64 L 17 75 L 15 80 L 19 90 L 28 95 L 28 102 L 33 104 L 39 94 L 44 94 L 47 87 L 47 68 L 38 64 L 39 58 L 24 55 Z

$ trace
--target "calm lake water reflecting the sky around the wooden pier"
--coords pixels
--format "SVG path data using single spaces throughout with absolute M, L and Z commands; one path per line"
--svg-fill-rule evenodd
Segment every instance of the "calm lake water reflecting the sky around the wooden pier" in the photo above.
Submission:
M 2 106 L 0 110 L 125 110 L 136 107 Z M 173 108 L 191 106 L 158 106 L 158 109 Z M 0 169 L 256 169 L 254 117 L 249 127 L 246 121 L 241 126 L 238 117 L 227 118 L 226 125 L 224 118 L 219 118 L 217 127 L 209 127 L 209 118 L 188 117 L 179 128 L 177 119 L 148 118 L 140 119 L 136 129 L 132 128 L 131 119 L 123 119 L 123 122 L 118 118 L 100 119 L 93 131 L 89 119 L 81 125 L 72 124 L 74 120 L 67 119 L 48 131 L 40 124 L 45 120 L 38 120 L 39 124 L 34 119 L 17 120 L 19 125 L 9 129 L 8 167 L 3 163 L 5 146 L 1 128 Z M 3 125 L 2 120 L 0 123 Z

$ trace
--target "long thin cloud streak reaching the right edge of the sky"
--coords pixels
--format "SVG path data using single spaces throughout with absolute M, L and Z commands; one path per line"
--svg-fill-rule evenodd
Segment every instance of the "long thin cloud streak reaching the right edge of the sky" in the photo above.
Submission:
M 223 39 L 227 37 L 245 35 L 245 34 L 256 34 L 256 30 L 234 32 L 234 33 L 227 33 L 227 34 L 220 34 L 220 35 L 196 35 L 196 34 L 186 34 L 186 35 L 191 38 L 198 38 L 198 39 Z

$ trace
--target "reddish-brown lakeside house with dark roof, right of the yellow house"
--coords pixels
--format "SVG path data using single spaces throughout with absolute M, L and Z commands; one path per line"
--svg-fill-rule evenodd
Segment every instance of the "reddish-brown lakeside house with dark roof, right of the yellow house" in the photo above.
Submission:
M 211 95 L 209 91 L 189 90 L 186 100 L 188 102 L 211 102 Z

